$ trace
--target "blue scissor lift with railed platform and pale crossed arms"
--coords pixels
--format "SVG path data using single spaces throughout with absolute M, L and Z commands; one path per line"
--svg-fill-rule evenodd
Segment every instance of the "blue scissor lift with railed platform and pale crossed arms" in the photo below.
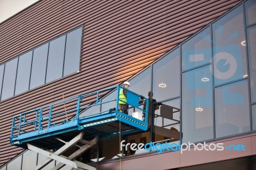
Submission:
M 10 143 L 47 157 L 35 169 L 42 169 L 52 160 L 60 162 L 52 169 L 60 169 L 65 164 L 74 169 L 95 169 L 95 167 L 78 162 L 75 160 L 76 157 L 96 144 L 99 138 L 131 134 L 148 129 L 148 99 L 126 89 L 127 104 L 144 114 L 145 120 L 129 116 L 120 112 L 118 108 L 117 101 L 119 101 L 121 88 L 123 87 L 115 86 L 63 99 L 61 102 L 14 116 Z M 109 91 L 115 94 L 115 98 L 100 100 L 100 96 Z M 95 104 L 86 105 L 88 101 L 95 99 Z M 144 109 L 141 107 L 142 102 L 146 104 Z M 95 109 L 92 109 L 93 107 Z M 90 110 L 94 112 L 90 113 Z M 75 153 L 69 157 L 61 155 L 75 145 L 79 147 Z

